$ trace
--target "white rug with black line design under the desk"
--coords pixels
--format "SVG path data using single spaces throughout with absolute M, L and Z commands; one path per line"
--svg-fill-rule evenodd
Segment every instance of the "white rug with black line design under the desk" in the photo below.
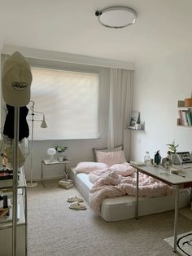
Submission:
M 164 239 L 173 248 L 173 236 Z M 177 236 L 177 252 L 184 256 L 192 256 L 192 232 Z

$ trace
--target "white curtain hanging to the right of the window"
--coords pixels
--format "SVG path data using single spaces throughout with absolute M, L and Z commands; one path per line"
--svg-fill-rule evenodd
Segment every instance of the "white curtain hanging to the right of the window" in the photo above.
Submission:
M 110 69 L 108 148 L 124 145 L 129 158 L 130 131 L 126 129 L 132 108 L 133 70 Z

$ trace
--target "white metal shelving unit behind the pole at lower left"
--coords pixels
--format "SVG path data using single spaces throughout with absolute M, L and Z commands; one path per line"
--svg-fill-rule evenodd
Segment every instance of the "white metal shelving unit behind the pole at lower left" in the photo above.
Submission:
M 26 256 L 27 255 L 27 192 L 26 192 L 26 180 L 24 176 L 24 168 L 20 168 L 20 179 L 18 180 L 18 220 L 17 220 L 17 253 L 16 255 Z M 13 180 L 1 180 L 0 181 L 0 191 L 4 195 L 7 195 L 11 200 L 13 198 L 13 192 L 11 192 L 13 187 Z M 10 190 L 10 191 L 8 191 Z M 11 241 L 12 241 L 12 207 L 10 210 L 10 215 L 7 217 L 0 218 L 0 248 L 1 255 L 11 255 Z

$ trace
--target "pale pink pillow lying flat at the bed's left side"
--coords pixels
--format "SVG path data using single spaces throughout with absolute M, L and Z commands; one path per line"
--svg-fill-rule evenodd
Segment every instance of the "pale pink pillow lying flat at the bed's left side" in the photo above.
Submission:
M 94 170 L 101 170 L 107 168 L 108 166 L 102 162 L 94 162 L 94 161 L 81 161 L 77 164 L 75 171 L 76 173 L 85 173 L 89 174 Z

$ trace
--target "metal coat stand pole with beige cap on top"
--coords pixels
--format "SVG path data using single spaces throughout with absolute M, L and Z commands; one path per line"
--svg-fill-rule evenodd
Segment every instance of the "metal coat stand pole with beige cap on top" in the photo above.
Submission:
M 19 168 L 19 129 L 20 107 L 26 106 L 30 100 L 32 73 L 28 61 L 15 51 L 2 67 L 2 96 L 6 104 L 14 107 L 14 139 L 13 139 L 13 210 L 12 210 L 12 256 L 17 255 L 17 189 Z M 27 251 L 27 249 L 26 249 Z M 20 255 L 18 255 L 20 256 Z

